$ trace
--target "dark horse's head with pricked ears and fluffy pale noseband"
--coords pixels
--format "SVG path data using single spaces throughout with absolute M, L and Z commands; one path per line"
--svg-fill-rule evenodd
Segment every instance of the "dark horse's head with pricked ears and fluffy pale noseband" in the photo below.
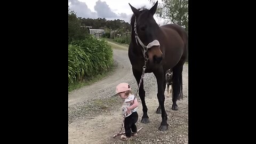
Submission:
M 153 63 L 160 63 L 163 59 L 163 53 L 160 50 L 160 44 L 157 40 L 157 34 L 160 28 L 153 17 L 157 4 L 156 2 L 150 10 L 137 10 L 129 3 L 133 12 L 131 18 L 132 41 L 133 43 L 137 43 L 138 47 L 141 47 L 142 53 L 147 50 L 145 53 L 146 57 Z

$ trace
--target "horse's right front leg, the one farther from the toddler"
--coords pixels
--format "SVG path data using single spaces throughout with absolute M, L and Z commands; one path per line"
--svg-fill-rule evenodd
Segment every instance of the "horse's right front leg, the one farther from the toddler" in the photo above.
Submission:
M 159 126 L 159 130 L 167 130 L 168 129 L 168 124 L 167 124 L 167 114 L 164 108 L 164 90 L 165 90 L 165 80 L 164 80 L 164 75 L 163 71 L 157 71 L 157 73 L 154 73 L 156 76 L 157 80 L 157 99 L 159 102 L 159 107 L 157 108 L 157 111 L 161 110 L 162 113 L 162 122 L 161 125 Z

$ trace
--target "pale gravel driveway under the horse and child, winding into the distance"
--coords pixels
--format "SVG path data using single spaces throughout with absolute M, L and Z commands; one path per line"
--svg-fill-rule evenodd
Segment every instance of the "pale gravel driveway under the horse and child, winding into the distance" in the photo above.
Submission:
M 109 42 L 110 43 L 110 42 Z M 146 105 L 150 123 L 141 123 L 142 105 L 138 107 L 137 127 L 143 127 L 137 138 L 130 141 L 112 138 L 122 124 L 122 100 L 113 98 L 115 86 L 120 82 L 131 84 L 133 93 L 137 90 L 132 75 L 127 47 L 110 43 L 114 47 L 114 60 L 117 69 L 113 74 L 90 86 L 68 94 L 68 143 L 188 143 L 188 64 L 183 68 L 183 100 L 178 101 L 178 111 L 171 110 L 172 98 L 165 98 L 169 129 L 159 131 L 161 114 L 156 114 L 158 107 L 157 84 L 154 74 L 145 74 Z M 167 89 L 166 89 L 167 90 Z M 167 95 L 167 91 L 165 91 Z M 139 102 L 140 98 L 137 97 Z

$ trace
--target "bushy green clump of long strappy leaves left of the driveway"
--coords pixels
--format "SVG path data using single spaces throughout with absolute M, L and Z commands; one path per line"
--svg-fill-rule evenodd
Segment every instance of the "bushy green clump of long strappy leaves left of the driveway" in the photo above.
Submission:
M 107 71 L 113 65 L 113 50 L 92 36 L 68 45 L 68 85 Z

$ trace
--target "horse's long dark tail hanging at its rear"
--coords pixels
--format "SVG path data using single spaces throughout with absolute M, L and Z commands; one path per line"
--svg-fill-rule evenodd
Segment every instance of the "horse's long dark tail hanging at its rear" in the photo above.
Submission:
M 174 101 L 183 99 L 182 70 L 183 70 L 184 63 L 185 63 L 185 59 L 182 59 L 173 68 L 173 75 L 172 75 L 172 92 L 173 92 L 173 94 L 172 94 L 172 99 Z

